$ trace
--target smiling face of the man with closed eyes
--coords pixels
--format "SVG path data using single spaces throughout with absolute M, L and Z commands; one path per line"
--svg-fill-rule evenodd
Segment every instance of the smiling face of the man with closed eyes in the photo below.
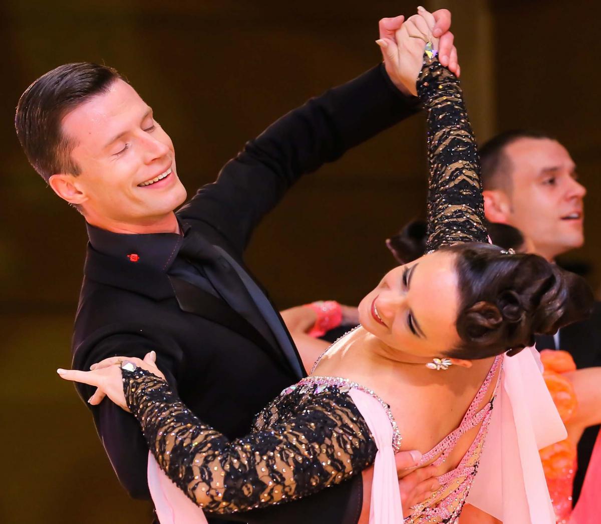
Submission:
M 117 80 L 73 109 L 63 119 L 63 132 L 76 144 L 72 159 L 81 173 L 71 180 L 88 222 L 122 232 L 174 223 L 173 210 L 186 190 L 173 144 L 129 84 Z

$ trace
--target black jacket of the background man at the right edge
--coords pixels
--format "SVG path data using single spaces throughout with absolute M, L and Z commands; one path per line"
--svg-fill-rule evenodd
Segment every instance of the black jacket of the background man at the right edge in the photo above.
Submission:
M 601 303 L 595 304 L 591 318 L 560 330 L 560 347 L 557 349 L 569 351 L 578 369 L 601 366 Z M 599 426 L 587 428 L 578 442 L 578 471 L 574 478 L 574 503 L 580 495 L 598 433 Z

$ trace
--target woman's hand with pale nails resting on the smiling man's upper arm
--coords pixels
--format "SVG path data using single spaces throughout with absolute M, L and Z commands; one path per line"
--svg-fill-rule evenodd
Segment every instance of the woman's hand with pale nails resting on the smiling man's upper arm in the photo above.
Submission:
M 97 405 L 102 402 L 105 396 L 108 396 L 115 404 L 129 411 L 125 395 L 123 393 L 123 375 L 121 374 L 121 363 L 131 362 L 138 368 L 146 369 L 152 374 L 165 380 L 159 368 L 156 367 L 156 353 L 151 351 L 144 356 L 144 360 L 136 357 L 110 357 L 102 360 L 92 366 L 90 371 L 78 371 L 77 369 L 57 369 L 56 372 L 65 380 L 81 382 L 96 386 L 96 392 L 88 399 L 92 405 Z

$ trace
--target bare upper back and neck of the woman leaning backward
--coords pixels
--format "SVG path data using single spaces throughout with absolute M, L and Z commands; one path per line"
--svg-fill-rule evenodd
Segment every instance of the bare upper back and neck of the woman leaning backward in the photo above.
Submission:
M 397 421 L 398 433 L 403 439 L 401 449 L 418 449 L 422 454 L 459 428 L 495 362 L 492 357 L 475 361 L 468 369 L 451 366 L 441 372 L 402 363 L 383 365 L 368 351 L 360 349 L 364 338 L 362 328 L 347 334 L 324 354 L 311 375 L 343 377 L 373 390 L 389 405 Z M 490 402 L 499 372 L 500 366 L 493 370 L 490 386 L 484 384 L 482 398 L 475 402 L 475 411 Z M 447 459 L 440 464 L 437 475 L 447 473 L 459 464 L 479 429 L 480 424 L 463 433 Z

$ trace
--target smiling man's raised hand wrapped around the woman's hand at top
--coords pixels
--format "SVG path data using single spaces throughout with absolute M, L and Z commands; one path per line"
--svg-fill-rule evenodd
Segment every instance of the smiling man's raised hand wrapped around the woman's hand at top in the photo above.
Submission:
M 443 66 L 448 67 L 448 69 L 459 76 L 461 68 L 457 61 L 457 49 L 453 45 L 453 33 L 449 30 L 451 28 L 451 11 L 448 9 L 439 9 L 438 11 L 434 11 L 432 16 L 435 20 L 433 35 L 440 39 L 438 43 L 438 60 Z M 396 33 L 403 25 L 404 20 L 405 17 L 403 15 L 380 20 L 379 42 L 382 43 L 379 43 L 379 45 L 382 49 L 384 66 L 386 67 L 388 76 L 402 93 L 410 94 L 401 82 L 395 82 L 395 65 L 394 62 L 389 59 L 388 54 L 386 54 L 386 48 L 391 46 L 396 48 Z

